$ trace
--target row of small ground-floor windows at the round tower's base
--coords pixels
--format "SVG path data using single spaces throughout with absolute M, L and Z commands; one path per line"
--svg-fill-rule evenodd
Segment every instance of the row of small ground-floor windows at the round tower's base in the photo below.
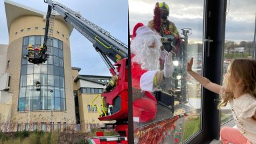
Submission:
M 53 122 L 53 123 L 49 123 L 48 125 L 49 125 L 51 131 L 54 130 L 54 122 Z M 17 125 L 17 131 L 22 131 L 22 130 L 23 130 L 23 129 L 22 129 L 22 126 L 23 126 L 22 124 L 18 124 L 18 125 Z M 31 129 L 29 128 L 29 123 L 25 123 L 24 126 L 25 126 L 25 127 L 24 127 L 24 130 L 25 130 L 25 131 L 30 131 L 30 130 L 31 130 Z M 63 128 L 65 129 L 66 127 L 67 127 L 67 123 L 64 122 L 64 123 L 63 123 Z M 37 131 L 37 129 L 38 129 L 37 123 L 33 123 L 33 125 L 32 125 L 32 130 L 33 130 L 33 131 Z M 57 130 L 61 130 L 61 122 L 57 122 Z M 41 123 L 41 131 L 47 131 L 47 123 L 45 123 L 45 122 L 42 122 L 42 123 Z

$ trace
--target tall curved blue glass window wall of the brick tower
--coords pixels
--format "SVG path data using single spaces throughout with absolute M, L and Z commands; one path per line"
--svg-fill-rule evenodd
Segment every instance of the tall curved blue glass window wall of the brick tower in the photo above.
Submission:
M 23 37 L 22 55 L 27 55 L 27 45 L 32 44 L 34 47 L 38 47 L 43 44 L 43 38 L 43 36 Z M 62 41 L 53 39 L 48 42 L 52 43 L 53 47 L 47 47 L 49 58 L 46 63 L 34 65 L 22 59 L 18 111 L 28 111 L 29 107 L 30 110 L 35 111 L 41 109 L 65 110 Z M 37 81 L 41 82 L 39 91 L 35 87 Z

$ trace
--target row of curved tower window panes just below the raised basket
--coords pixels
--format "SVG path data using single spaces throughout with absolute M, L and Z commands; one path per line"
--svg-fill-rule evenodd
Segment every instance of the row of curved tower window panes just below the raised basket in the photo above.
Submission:
M 63 67 L 55 65 L 21 65 L 21 75 L 29 74 L 60 75 L 64 77 Z

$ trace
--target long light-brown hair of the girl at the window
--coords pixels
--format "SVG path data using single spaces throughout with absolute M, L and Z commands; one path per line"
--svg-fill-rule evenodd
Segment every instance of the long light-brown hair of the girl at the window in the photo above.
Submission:
M 256 61 L 253 59 L 234 59 L 229 65 L 229 70 L 229 78 L 223 80 L 223 86 L 221 87 L 219 109 L 225 107 L 227 102 L 232 101 L 234 98 L 232 92 L 225 91 L 228 83 L 234 83 L 234 81 L 230 81 L 230 77 L 241 79 L 241 92 L 249 93 L 256 98 Z M 232 91 L 232 89 L 230 90 Z

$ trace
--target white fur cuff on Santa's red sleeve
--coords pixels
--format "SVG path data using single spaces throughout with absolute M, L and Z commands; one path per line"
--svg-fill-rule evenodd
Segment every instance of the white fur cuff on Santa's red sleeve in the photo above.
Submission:
M 139 81 L 139 85 L 143 91 L 155 91 L 156 87 L 154 87 L 154 77 L 158 70 L 155 71 L 147 71 L 143 75 L 141 75 L 141 81 Z

